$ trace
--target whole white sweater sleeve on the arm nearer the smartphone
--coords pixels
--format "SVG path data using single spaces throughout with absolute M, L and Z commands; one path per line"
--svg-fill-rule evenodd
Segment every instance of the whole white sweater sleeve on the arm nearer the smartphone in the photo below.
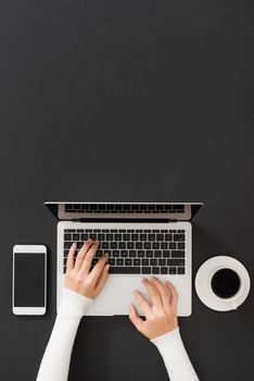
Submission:
M 36 381 L 66 381 L 74 340 L 92 299 L 63 288 L 62 302 Z

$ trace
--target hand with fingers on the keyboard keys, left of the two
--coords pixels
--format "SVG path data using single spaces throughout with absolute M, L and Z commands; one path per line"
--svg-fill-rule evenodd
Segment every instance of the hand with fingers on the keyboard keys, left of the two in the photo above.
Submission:
M 110 265 L 107 255 L 103 254 L 94 268 L 90 271 L 92 259 L 98 250 L 99 241 L 88 239 L 78 253 L 76 260 L 76 244 L 69 249 L 66 266 L 65 287 L 78 294 L 94 299 L 102 291 L 109 278 Z

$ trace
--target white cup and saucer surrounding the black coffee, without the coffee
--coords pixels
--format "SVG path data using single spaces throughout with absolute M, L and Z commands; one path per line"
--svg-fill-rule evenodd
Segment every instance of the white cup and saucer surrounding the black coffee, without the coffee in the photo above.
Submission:
M 238 273 L 241 280 L 239 295 L 224 299 L 214 294 L 211 287 L 211 278 L 221 268 L 228 268 Z M 247 297 L 251 287 L 250 275 L 245 267 L 237 259 L 228 256 L 217 256 L 206 260 L 195 275 L 195 291 L 201 302 L 216 311 L 237 309 Z

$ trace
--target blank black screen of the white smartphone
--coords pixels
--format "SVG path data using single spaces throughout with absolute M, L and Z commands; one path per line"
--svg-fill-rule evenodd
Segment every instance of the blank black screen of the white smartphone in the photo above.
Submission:
M 45 307 L 43 253 L 14 254 L 14 307 Z

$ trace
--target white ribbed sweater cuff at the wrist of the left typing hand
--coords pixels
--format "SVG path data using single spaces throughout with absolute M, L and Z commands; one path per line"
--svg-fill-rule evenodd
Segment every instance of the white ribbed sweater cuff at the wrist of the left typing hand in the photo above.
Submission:
M 87 296 L 63 287 L 59 316 L 81 318 L 92 302 Z

